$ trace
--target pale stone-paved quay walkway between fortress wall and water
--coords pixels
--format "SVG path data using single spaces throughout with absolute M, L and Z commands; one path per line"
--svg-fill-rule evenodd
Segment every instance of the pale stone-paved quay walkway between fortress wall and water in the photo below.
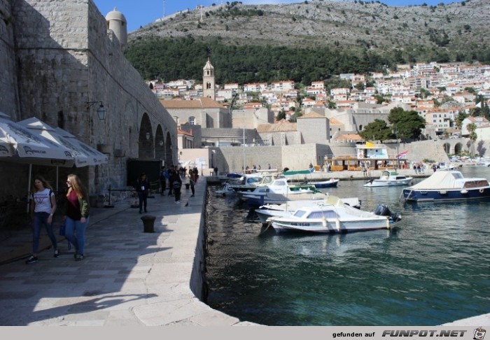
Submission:
M 360 171 L 317 175 L 364 178 Z M 216 176 L 202 176 L 195 197 L 183 188 L 180 204 L 155 193 L 143 215 L 130 199 L 91 208 L 83 261 L 73 259 L 62 236 L 61 255 L 53 257 L 43 235 L 39 261 L 25 264 L 30 229 L 13 230 L 0 241 L 0 325 L 257 325 L 202 302 L 207 187 L 218 183 Z M 144 216 L 155 218 L 153 230 Z M 490 314 L 446 325 L 490 325 Z

